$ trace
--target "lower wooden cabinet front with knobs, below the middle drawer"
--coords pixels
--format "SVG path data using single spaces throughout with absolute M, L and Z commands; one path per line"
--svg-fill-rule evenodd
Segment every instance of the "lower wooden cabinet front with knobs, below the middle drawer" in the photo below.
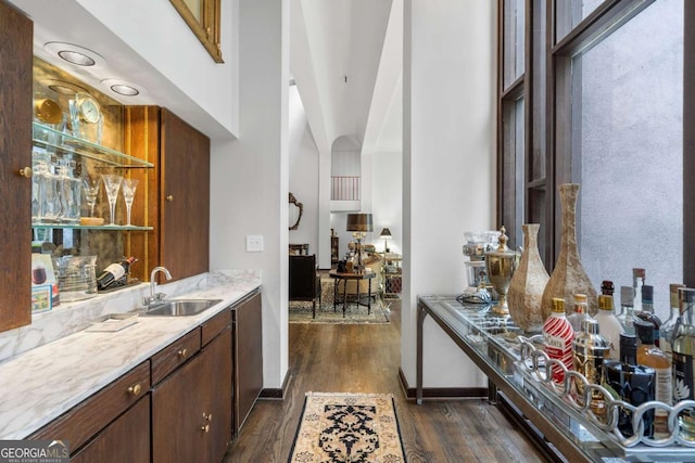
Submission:
M 231 428 L 231 331 L 152 390 L 152 461 L 222 461 Z

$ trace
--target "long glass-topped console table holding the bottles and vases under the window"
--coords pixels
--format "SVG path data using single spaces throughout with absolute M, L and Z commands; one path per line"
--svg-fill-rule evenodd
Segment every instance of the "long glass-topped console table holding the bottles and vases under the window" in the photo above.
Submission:
M 517 338 L 522 333 L 509 317 L 490 313 L 482 305 L 463 305 L 455 296 L 418 296 L 418 404 L 422 403 L 422 323 L 428 316 L 488 375 L 491 398 L 496 399 L 500 395 L 509 401 L 513 408 L 518 409 L 517 413 L 520 416 L 517 417 L 522 421 L 521 426 L 526 429 L 538 429 L 536 437 L 551 442 L 545 442 L 546 449 L 551 449 L 551 454 L 555 448 L 564 459 L 572 463 L 606 460 L 695 461 L 695 451 L 692 448 L 678 445 L 661 448 L 644 443 L 634 447 L 621 446 L 525 372 Z

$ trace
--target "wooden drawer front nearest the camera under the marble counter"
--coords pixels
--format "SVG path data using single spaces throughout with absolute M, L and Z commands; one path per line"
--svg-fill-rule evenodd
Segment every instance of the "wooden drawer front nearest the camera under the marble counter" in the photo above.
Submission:
M 29 438 L 64 439 L 70 441 L 71 451 L 74 452 L 149 390 L 150 364 L 144 362 Z

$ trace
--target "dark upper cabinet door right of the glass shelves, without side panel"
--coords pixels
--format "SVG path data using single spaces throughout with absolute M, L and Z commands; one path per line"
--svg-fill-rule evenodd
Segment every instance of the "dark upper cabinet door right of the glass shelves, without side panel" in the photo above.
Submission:
M 162 110 L 161 263 L 176 279 L 210 268 L 210 139 Z

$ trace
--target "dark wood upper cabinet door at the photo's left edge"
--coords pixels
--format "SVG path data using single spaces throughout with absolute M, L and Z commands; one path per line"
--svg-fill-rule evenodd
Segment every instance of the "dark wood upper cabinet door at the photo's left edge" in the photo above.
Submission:
M 34 24 L 0 1 L 0 331 L 29 324 Z M 9 288 L 12 288 L 11 291 Z

